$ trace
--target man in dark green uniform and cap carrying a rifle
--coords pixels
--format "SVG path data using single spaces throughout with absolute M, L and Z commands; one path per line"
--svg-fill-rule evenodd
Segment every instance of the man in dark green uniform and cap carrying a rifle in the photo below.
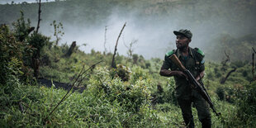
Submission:
M 185 68 L 192 73 L 199 83 L 201 83 L 201 78 L 203 78 L 205 73 L 204 53 L 197 48 L 192 49 L 189 47 L 189 43 L 192 40 L 191 31 L 182 29 L 173 31 L 173 33 L 176 35 L 177 50 L 171 50 L 165 55 L 160 75 L 174 77 L 176 84 L 175 96 L 178 99 L 178 105 L 182 110 L 186 126 L 190 128 L 194 127 L 192 116 L 193 102 L 194 107 L 197 109 L 197 115 L 201 121 L 201 126 L 203 128 L 211 127 L 211 113 L 208 103 L 196 90 L 192 89 L 192 86 L 187 81 L 187 75 L 178 69 L 178 66 L 173 64 L 172 60 L 169 59 L 171 55 L 177 55 Z

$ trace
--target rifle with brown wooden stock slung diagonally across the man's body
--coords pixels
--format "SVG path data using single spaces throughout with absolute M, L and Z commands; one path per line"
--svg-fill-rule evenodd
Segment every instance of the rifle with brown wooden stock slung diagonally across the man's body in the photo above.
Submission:
M 197 82 L 196 78 L 193 77 L 192 73 L 190 73 L 190 71 L 183 66 L 183 64 L 179 61 L 179 59 L 175 54 L 171 55 L 170 59 L 172 59 L 173 63 L 176 64 L 178 68 L 183 71 L 183 73 L 187 74 L 188 81 L 192 83 L 192 88 L 197 90 L 197 92 L 201 95 L 201 97 L 203 97 L 206 100 L 206 102 L 209 103 L 212 111 L 216 113 L 216 116 L 220 116 L 220 113 L 217 113 L 215 108 L 213 107 L 213 103 L 211 102 L 211 98 L 206 92 L 206 89 L 203 88 L 201 84 Z

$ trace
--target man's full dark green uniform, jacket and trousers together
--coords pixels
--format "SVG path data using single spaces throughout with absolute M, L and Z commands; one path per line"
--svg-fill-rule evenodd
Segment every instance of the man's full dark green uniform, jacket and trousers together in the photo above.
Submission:
M 204 71 L 204 54 L 201 50 L 191 47 L 188 48 L 188 55 L 184 57 L 179 49 L 169 51 L 164 58 L 164 64 L 161 69 L 180 70 L 176 64 L 173 64 L 169 57 L 173 54 L 177 55 L 186 69 L 196 78 L 199 73 Z M 187 82 L 186 78 L 174 76 L 176 83 L 176 97 L 178 105 L 183 112 L 183 119 L 188 127 L 194 127 L 192 116 L 192 102 L 197 108 L 197 115 L 201 121 L 202 127 L 211 127 L 211 114 L 208 103 L 201 97 L 196 90 Z M 201 83 L 201 80 L 199 81 Z

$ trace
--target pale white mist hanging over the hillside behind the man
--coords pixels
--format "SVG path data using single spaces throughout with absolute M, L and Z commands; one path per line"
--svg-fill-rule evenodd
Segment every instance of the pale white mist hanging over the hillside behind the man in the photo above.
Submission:
M 255 36 L 256 4 L 254 1 L 166 0 L 164 2 L 159 0 L 150 1 L 152 6 L 144 3 L 144 1 L 134 1 L 129 2 L 133 6 L 113 6 L 108 10 L 99 11 L 106 15 L 97 18 L 102 14 L 98 14 L 99 12 L 92 14 L 94 21 L 91 20 L 91 22 L 87 21 L 88 17 L 81 12 L 84 8 L 79 8 L 78 5 L 73 6 L 73 19 L 65 18 L 69 17 L 65 8 L 59 7 L 55 12 L 47 12 L 42 5 L 43 20 L 40 23 L 40 31 L 46 36 L 51 36 L 51 40 L 55 40 L 54 28 L 50 23 L 54 20 L 62 22 L 64 36 L 61 37 L 60 44 L 70 45 L 72 41 L 77 41 L 77 45 L 80 45 L 79 49 L 89 53 L 92 49 L 104 51 L 106 40 L 107 52 L 113 52 L 117 36 L 126 22 L 117 52 L 120 55 L 126 55 L 125 44 L 129 45 L 132 40 L 138 40 L 134 47 L 134 54 L 143 55 L 145 59 L 155 57 L 164 59 L 164 54 L 168 50 L 176 49 L 173 31 L 180 29 L 192 31 L 190 46 L 200 48 L 206 53 L 210 43 L 221 34 L 227 33 L 230 36 L 253 34 Z M 237 3 L 249 5 L 250 10 L 246 9 L 247 7 L 236 6 Z M 159 12 L 162 13 L 159 14 Z M 36 20 L 36 17 L 31 18 L 33 26 L 36 26 Z

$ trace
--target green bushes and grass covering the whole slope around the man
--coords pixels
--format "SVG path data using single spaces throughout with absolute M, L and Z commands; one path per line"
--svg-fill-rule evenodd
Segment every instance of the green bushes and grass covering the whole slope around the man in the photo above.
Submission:
M 117 2 L 111 5 L 114 3 Z M 24 20 L 22 12 L 13 29 L 0 26 L 1 127 L 184 126 L 175 98 L 174 79 L 159 76 L 161 59 L 144 59 L 142 55 L 128 58 L 117 54 L 117 68 L 111 69 L 111 53 L 91 50 L 86 54 L 76 46 L 73 54 L 67 57 L 69 45 L 56 45 L 50 37 L 31 32 L 31 23 Z M 246 41 L 243 46 L 251 46 L 255 41 L 248 37 L 244 39 L 250 40 L 228 37 L 225 36 L 225 42 L 229 42 L 225 45 L 230 47 L 232 54 L 236 49 L 231 47 L 234 43 Z M 47 88 L 37 83 L 35 56 L 40 59 L 39 78 L 61 83 L 73 83 L 83 65 L 88 69 L 100 60 L 102 63 L 83 74 L 85 78 L 81 84 L 75 84 L 85 90 L 69 93 L 50 115 L 67 90 L 55 88 L 54 84 Z M 236 71 L 220 84 L 234 68 Z M 256 82 L 252 79 L 251 64 L 246 61 L 206 62 L 204 83 L 216 110 L 222 115 L 218 118 L 212 113 L 213 127 L 256 126 Z M 200 127 L 195 108 L 192 111 L 195 124 Z

